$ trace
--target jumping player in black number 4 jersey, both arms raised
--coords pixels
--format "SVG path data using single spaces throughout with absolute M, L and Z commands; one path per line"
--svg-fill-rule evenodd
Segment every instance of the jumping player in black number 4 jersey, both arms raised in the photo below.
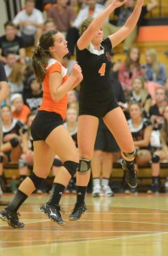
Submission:
M 133 30 L 141 13 L 143 0 L 137 0 L 132 15 L 126 20 L 119 31 L 104 38 L 102 25 L 112 11 L 126 3 L 126 0 L 112 0 L 109 6 L 94 20 L 87 19 L 81 25 L 81 38 L 76 45 L 76 61 L 81 66 L 83 80 L 81 81 L 78 119 L 78 147 L 80 166 L 76 174 L 77 201 L 70 213 L 70 220 L 81 218 L 87 210 L 85 194 L 90 178 L 90 167 L 98 130 L 98 118 L 103 118 L 120 146 L 123 160 L 122 167 L 126 171 L 126 181 L 130 187 L 137 187 L 134 158 L 136 150 L 132 134 L 126 123 L 126 118 L 115 100 L 110 85 L 110 51 L 120 44 Z

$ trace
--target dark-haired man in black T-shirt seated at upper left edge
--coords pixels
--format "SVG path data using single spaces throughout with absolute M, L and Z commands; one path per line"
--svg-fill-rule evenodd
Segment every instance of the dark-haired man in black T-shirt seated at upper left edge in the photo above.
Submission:
M 12 51 L 17 59 L 22 63 L 25 62 L 25 45 L 22 38 L 17 36 L 14 23 L 7 21 L 4 24 L 4 31 L 5 34 L 0 38 L 0 61 L 6 64 L 8 51 Z

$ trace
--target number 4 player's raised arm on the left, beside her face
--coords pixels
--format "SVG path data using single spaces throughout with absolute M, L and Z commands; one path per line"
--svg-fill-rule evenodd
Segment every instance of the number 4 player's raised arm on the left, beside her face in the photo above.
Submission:
M 109 4 L 109 6 L 104 9 L 104 11 L 98 15 L 94 20 L 92 20 L 92 23 L 90 26 L 88 26 L 87 30 L 83 32 L 81 35 L 81 38 L 77 41 L 77 46 L 79 49 L 85 49 L 92 41 L 92 38 L 94 37 L 95 32 L 98 30 L 99 27 L 101 27 L 105 20 L 109 17 L 111 12 L 113 12 L 116 8 L 120 7 L 126 3 L 126 0 L 120 2 L 120 0 L 112 0 L 112 2 Z

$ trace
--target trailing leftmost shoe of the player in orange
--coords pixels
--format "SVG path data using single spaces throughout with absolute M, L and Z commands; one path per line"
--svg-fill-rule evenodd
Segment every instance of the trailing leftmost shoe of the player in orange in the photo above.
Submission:
M 8 209 L 3 209 L 3 211 L 0 212 L 0 218 L 6 221 L 9 226 L 13 228 L 23 228 L 25 224 L 20 222 L 18 216 L 20 216 L 19 212 L 10 212 Z

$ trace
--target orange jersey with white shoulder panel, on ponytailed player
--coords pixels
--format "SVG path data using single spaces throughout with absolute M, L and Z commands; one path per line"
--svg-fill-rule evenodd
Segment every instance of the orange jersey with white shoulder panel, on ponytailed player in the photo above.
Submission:
M 49 90 L 49 74 L 53 72 L 61 73 L 63 77 L 62 84 L 64 84 L 66 79 L 68 79 L 67 68 L 65 68 L 61 63 L 59 63 L 59 61 L 56 61 L 54 59 L 49 59 L 48 67 L 46 69 L 47 69 L 47 72 L 42 83 L 42 87 L 43 87 L 42 105 L 40 108 L 38 108 L 38 110 L 45 110 L 49 112 L 59 113 L 62 119 L 65 119 L 66 108 L 68 104 L 67 94 L 59 102 L 53 102 L 53 99 Z

